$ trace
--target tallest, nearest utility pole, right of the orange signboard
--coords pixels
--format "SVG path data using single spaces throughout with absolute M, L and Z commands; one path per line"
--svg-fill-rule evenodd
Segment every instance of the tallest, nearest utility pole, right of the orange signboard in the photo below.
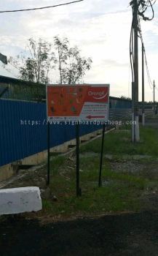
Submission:
M 139 109 L 138 109 L 138 0 L 133 4 L 133 29 L 134 29 L 134 142 L 139 141 Z

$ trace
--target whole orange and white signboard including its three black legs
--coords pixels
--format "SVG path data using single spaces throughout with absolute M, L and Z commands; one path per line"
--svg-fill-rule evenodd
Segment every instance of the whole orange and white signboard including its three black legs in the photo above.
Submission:
M 66 95 L 66 97 L 64 97 Z M 75 95 L 75 98 L 74 98 Z M 61 100 L 62 97 L 62 100 Z M 66 108 L 65 108 L 66 106 Z M 76 122 L 76 196 L 82 195 L 79 181 L 79 120 L 107 121 L 109 112 L 109 84 L 78 84 L 47 86 L 47 118 L 49 121 Z M 75 115 L 74 115 L 75 113 Z M 51 119 L 52 118 L 52 119 Z M 99 187 L 103 163 L 103 125 L 100 155 Z M 50 123 L 47 124 L 47 185 L 50 184 Z

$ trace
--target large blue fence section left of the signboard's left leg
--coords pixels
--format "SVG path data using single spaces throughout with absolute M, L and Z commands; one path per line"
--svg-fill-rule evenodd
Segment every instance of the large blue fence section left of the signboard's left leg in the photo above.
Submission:
M 47 148 L 44 118 L 45 104 L 0 100 L 0 165 Z

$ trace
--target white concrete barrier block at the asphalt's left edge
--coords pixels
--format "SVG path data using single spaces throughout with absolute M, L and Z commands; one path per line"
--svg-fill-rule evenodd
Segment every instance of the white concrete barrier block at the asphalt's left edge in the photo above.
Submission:
M 39 187 L 0 189 L 0 215 L 40 211 L 42 200 Z

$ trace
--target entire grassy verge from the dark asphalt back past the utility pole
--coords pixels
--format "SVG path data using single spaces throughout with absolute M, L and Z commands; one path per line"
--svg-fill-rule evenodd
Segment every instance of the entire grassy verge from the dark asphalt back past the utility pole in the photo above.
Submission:
M 158 131 L 141 128 L 141 142 L 133 144 L 130 142 L 129 127 L 122 128 L 105 136 L 100 188 L 101 139 L 81 146 L 82 197 L 76 197 L 75 154 L 52 159 L 51 196 L 43 200 L 44 214 L 85 216 L 141 211 L 152 207 L 149 206 L 148 197 L 153 193 L 156 195 L 158 189 Z M 53 195 L 57 200 L 52 200 Z

